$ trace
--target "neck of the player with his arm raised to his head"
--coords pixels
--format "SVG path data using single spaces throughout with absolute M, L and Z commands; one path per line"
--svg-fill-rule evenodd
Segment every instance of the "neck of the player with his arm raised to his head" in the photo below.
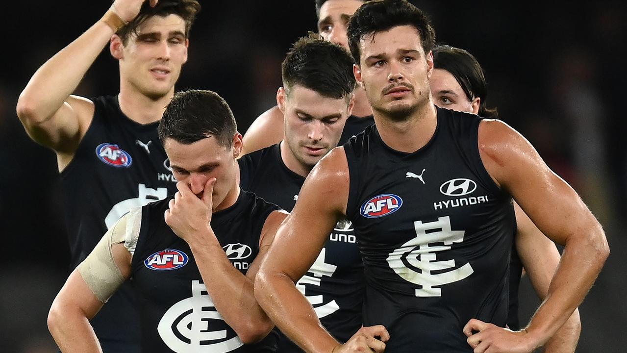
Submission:
M 128 84 L 120 85 L 118 102 L 122 113 L 139 124 L 150 124 L 161 120 L 167 104 L 174 96 L 174 87 L 166 95 L 153 99 L 129 86 Z

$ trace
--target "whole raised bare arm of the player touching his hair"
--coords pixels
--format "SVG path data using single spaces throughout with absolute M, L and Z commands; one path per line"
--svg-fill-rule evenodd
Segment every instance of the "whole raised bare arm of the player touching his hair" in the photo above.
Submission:
M 144 1 L 116 0 L 102 19 L 46 61 L 19 96 L 16 110 L 26 132 L 57 152 L 60 170 L 71 161 L 94 111 L 93 102 L 71 93 L 112 40 L 112 26 L 134 19 Z

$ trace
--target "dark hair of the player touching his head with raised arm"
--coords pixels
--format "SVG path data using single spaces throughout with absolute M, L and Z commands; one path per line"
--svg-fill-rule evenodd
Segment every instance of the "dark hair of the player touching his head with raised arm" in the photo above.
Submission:
M 159 0 L 154 8 L 150 6 L 150 1 L 145 1 L 139 14 L 135 16 L 126 26 L 117 31 L 117 35 L 122 38 L 122 43 L 126 45 L 130 35 L 137 33 L 137 28 L 152 16 L 166 17 L 170 14 L 176 14 L 185 21 L 185 36 L 189 37 L 189 31 L 196 19 L 196 14 L 200 11 L 198 0 Z

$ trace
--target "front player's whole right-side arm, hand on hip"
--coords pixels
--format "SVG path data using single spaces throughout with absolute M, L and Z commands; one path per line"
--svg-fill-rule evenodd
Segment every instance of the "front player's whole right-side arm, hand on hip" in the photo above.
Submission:
M 464 327 L 475 352 L 531 352 L 571 317 L 609 255 L 601 224 L 577 192 L 542 161 L 522 135 L 499 120 L 479 125 L 478 145 L 488 173 L 534 224 L 564 245 L 546 299 L 524 331 L 511 332 L 472 319 Z M 472 334 L 473 330 L 479 331 Z

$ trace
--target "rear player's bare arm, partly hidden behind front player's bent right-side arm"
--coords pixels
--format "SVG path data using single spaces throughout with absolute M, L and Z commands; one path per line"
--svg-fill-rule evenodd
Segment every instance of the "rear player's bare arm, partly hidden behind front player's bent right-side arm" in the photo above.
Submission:
M 551 279 L 559 264 L 559 251 L 555 243 L 542 234 L 517 203 L 514 203 L 514 210 L 518 228 L 516 250 L 535 292 L 540 300 L 545 300 Z M 544 352 L 573 353 L 579 342 L 580 333 L 579 310 L 575 309 L 571 317 L 566 320 L 566 324 L 560 327 L 544 345 Z

